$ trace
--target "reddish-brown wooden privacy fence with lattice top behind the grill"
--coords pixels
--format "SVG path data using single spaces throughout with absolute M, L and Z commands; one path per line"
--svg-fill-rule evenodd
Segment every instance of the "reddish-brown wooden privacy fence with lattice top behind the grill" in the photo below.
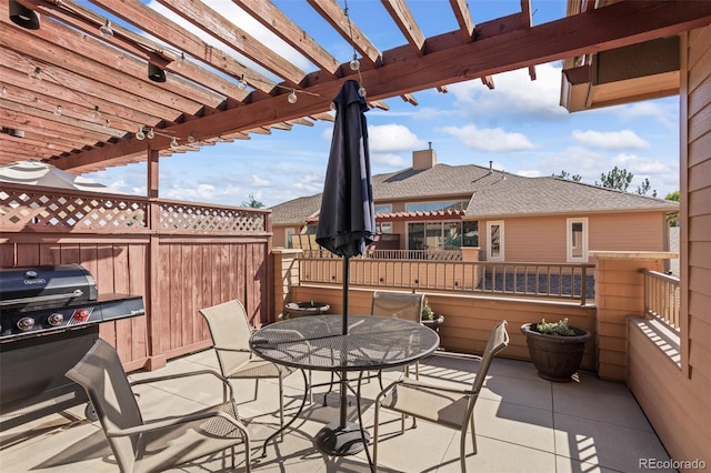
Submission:
M 211 344 L 198 313 L 230 299 L 271 319 L 271 212 L 3 183 L 0 265 L 79 263 L 100 293 L 143 296 L 146 316 L 101 324 L 128 370 Z

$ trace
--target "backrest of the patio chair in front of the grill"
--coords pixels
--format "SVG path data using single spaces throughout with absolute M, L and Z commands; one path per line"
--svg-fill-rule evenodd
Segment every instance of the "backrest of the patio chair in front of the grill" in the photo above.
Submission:
M 143 424 L 121 360 L 109 343 L 97 340 L 66 375 L 87 391 L 104 431 Z M 133 470 L 139 435 L 107 439 L 121 471 Z

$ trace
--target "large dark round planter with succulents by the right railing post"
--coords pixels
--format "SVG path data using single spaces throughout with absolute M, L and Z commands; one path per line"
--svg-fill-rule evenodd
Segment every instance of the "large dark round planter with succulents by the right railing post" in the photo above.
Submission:
M 580 369 L 585 342 L 591 333 L 570 326 L 568 319 L 558 322 L 525 323 L 521 325 L 525 335 L 531 362 L 544 380 L 564 383 Z

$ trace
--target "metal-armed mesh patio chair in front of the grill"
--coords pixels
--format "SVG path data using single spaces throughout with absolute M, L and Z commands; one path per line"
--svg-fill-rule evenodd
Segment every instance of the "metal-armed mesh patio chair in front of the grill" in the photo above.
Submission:
M 143 421 L 132 385 L 204 374 L 230 388 L 226 402 L 187 415 Z M 231 449 L 234 469 L 234 446 L 241 443 L 247 471 L 251 471 L 249 433 L 239 421 L 229 381 L 218 373 L 202 370 L 129 383 L 113 346 L 99 339 L 66 375 L 87 391 L 121 472 L 162 472 L 226 449 Z

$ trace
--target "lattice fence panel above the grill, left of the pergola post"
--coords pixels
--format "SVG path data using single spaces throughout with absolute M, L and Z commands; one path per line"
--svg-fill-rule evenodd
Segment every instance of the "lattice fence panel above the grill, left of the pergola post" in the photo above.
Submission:
M 12 227 L 91 231 L 148 228 L 148 202 L 123 195 L 0 190 L 0 222 Z

